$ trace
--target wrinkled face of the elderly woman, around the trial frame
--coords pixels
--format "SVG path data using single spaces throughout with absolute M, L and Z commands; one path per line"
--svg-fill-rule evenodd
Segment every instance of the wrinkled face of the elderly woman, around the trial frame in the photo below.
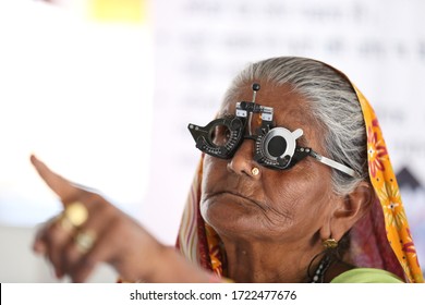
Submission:
M 296 144 L 326 156 L 321 131 L 304 98 L 288 86 L 260 86 L 256 102 L 274 108 L 276 125 L 291 132 L 302 129 L 304 134 Z M 252 95 L 251 85 L 243 87 L 235 100 L 222 106 L 219 117 L 234 114 L 235 103 L 252 100 Z M 253 117 L 252 130 L 259 123 Z M 204 219 L 222 237 L 279 242 L 317 239 L 336 196 L 330 169 L 311 157 L 289 170 L 267 169 L 253 160 L 253 148 L 254 142 L 245 139 L 231 159 L 205 156 L 201 200 Z M 253 167 L 259 169 L 259 174 L 251 172 Z

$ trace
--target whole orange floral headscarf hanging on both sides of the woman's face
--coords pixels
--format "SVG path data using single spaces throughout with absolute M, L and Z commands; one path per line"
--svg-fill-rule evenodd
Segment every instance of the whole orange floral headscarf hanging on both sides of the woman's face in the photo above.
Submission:
M 378 120 L 366 98 L 353 87 L 365 120 L 368 171 L 378 200 L 350 232 L 350 258 L 359 267 L 385 269 L 406 282 L 424 282 Z M 203 160 L 183 212 L 177 246 L 190 260 L 226 277 L 226 252 L 220 237 L 199 212 L 202 168 Z

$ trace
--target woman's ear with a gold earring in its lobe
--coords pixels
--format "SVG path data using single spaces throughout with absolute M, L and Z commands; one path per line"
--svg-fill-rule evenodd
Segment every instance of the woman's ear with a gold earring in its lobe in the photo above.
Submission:
M 335 208 L 330 216 L 329 228 L 320 232 L 320 237 L 340 241 L 354 223 L 369 210 L 375 196 L 371 183 L 363 181 L 353 192 L 340 197 L 337 203 L 333 203 Z

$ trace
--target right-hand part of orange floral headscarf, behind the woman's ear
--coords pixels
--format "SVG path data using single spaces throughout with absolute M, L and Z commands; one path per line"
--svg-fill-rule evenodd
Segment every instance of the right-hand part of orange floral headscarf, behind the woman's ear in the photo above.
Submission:
M 352 256 L 357 258 L 354 260 L 357 260 L 359 264 L 387 269 L 400 277 L 404 276 L 408 282 L 422 283 L 424 282 L 423 273 L 382 131 L 367 99 L 354 85 L 353 87 L 362 106 L 366 125 L 369 178 L 378 202 L 368 218 L 362 219 L 352 229 L 351 242 L 354 244 L 351 249 Z M 382 227 L 379 225 L 379 219 L 382 218 L 385 228 L 379 228 Z M 380 220 L 380 222 L 382 221 Z M 375 236 L 372 236 L 371 232 L 366 232 L 371 228 L 376 230 Z

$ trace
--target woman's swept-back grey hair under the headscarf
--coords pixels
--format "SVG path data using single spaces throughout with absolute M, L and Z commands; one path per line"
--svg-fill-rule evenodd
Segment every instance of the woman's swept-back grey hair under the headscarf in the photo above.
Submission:
M 305 58 L 280 57 L 250 64 L 234 80 L 226 100 L 254 81 L 290 85 L 309 103 L 312 117 L 324 127 L 329 158 L 352 168 L 359 178 L 332 170 L 333 191 L 345 195 L 368 178 L 367 142 L 357 96 L 350 82 L 329 65 Z M 314 147 L 313 147 L 314 148 Z

